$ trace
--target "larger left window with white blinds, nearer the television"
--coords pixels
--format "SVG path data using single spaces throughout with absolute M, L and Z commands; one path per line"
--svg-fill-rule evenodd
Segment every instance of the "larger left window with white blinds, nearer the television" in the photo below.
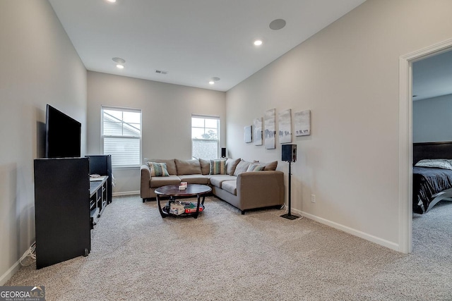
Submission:
M 141 110 L 102 106 L 102 152 L 112 166 L 141 164 Z

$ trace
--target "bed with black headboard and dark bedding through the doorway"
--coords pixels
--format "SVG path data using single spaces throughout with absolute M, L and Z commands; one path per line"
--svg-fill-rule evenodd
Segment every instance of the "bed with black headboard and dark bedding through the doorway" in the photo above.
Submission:
M 412 210 L 427 213 L 441 200 L 452 200 L 452 142 L 414 143 Z

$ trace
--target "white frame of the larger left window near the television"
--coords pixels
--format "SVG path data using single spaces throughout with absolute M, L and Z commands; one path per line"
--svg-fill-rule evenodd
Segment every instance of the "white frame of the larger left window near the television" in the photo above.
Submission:
M 104 110 L 112 110 L 112 111 L 121 111 L 121 112 L 132 112 L 132 113 L 140 113 L 140 135 L 139 136 L 124 136 L 124 135 L 104 135 Z M 124 123 L 124 120 L 122 121 Z M 143 145 L 143 111 L 141 109 L 136 108 L 128 108 L 124 106 L 101 106 L 100 107 L 100 148 L 102 154 L 105 154 L 104 145 L 105 138 L 118 138 L 118 139 L 131 139 L 131 140 L 139 140 L 139 156 L 137 164 L 114 164 L 114 160 L 112 159 L 112 168 L 120 169 L 120 168 L 136 168 L 141 166 L 141 156 L 142 156 L 142 145 Z

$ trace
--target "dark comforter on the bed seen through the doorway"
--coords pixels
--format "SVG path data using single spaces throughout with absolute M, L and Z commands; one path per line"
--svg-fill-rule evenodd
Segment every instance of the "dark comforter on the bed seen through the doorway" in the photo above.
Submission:
M 423 214 L 433 195 L 452 188 L 450 169 L 414 166 L 412 173 L 412 211 L 415 213 Z

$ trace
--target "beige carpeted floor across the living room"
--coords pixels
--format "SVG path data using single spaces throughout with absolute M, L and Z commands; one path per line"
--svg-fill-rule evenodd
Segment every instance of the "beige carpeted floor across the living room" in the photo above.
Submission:
M 408 255 L 281 210 L 205 204 L 162 219 L 155 201 L 115 197 L 88 257 L 6 285 L 44 285 L 47 300 L 452 300 L 452 202 L 413 216 Z

